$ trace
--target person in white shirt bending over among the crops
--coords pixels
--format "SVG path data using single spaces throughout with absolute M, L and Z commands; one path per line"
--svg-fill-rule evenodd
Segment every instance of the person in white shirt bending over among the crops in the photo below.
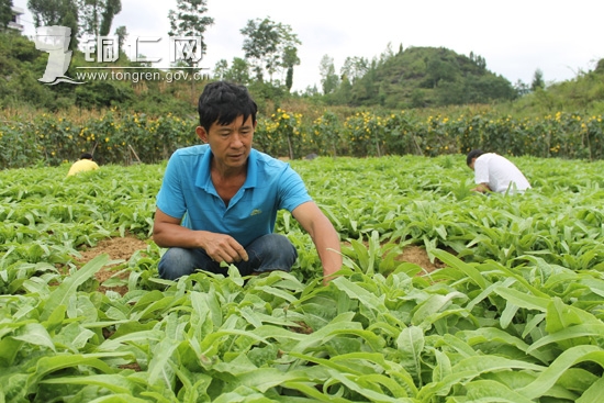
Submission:
M 474 171 L 476 192 L 523 193 L 530 183 L 511 160 L 495 153 L 472 149 L 466 158 Z

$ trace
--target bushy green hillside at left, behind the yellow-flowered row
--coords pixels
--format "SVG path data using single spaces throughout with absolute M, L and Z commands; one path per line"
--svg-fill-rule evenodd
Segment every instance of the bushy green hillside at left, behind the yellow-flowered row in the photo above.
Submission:
M 116 65 L 128 67 L 128 74 L 157 72 L 160 70 L 138 70 L 132 67 L 142 67 L 120 57 Z M 166 86 L 163 80 L 119 80 L 98 79 L 89 80 L 85 85 L 57 83 L 46 86 L 38 81 L 44 75 L 48 61 L 48 54 L 36 49 L 34 42 L 18 32 L 0 32 L 0 108 L 21 109 L 33 108 L 49 111 L 77 108 L 83 110 L 103 110 L 120 107 L 132 111 L 149 114 L 164 112 L 179 113 L 187 110 L 190 113 L 194 104 L 192 93 L 199 97 L 201 83 L 191 88 L 189 82 L 176 82 Z M 82 52 L 74 52 L 66 76 L 76 78 L 77 67 L 86 66 Z M 103 66 L 97 64 L 97 66 Z M 120 70 L 116 67 L 115 70 Z M 108 70 L 105 70 L 108 71 Z

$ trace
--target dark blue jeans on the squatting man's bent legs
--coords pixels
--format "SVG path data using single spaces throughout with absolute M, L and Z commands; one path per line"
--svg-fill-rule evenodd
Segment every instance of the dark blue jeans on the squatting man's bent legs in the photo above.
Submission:
M 283 270 L 290 271 L 298 259 L 298 251 L 291 242 L 280 234 L 260 236 L 245 248 L 248 260 L 235 262 L 242 276 L 253 272 Z M 210 271 L 227 276 L 227 268 L 213 261 L 205 250 L 201 248 L 187 249 L 169 248 L 158 265 L 159 277 L 166 280 L 176 280 L 197 270 Z

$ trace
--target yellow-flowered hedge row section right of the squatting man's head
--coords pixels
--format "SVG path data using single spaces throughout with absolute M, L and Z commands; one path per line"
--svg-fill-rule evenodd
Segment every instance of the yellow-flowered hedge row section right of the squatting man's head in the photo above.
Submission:
M 533 119 L 476 114 L 420 117 L 402 111 L 358 112 L 344 121 L 329 111 L 312 124 L 278 110 L 260 120 L 256 144 L 270 154 L 299 158 L 310 153 L 355 157 L 466 154 L 472 148 L 506 155 L 604 158 L 604 116 L 557 112 Z

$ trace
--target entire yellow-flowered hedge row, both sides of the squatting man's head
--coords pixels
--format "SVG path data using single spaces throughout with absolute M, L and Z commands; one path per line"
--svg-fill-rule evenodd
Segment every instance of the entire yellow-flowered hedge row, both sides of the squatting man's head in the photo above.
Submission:
M 515 119 L 490 114 L 422 117 L 413 112 L 358 112 L 339 119 L 331 111 L 312 122 L 278 109 L 260 116 L 255 146 L 273 156 L 307 154 L 382 156 L 466 154 L 482 148 L 505 155 L 604 158 L 602 115 L 556 114 Z M 101 164 L 157 163 L 179 147 L 198 144 L 197 122 L 168 114 L 150 117 L 111 110 L 101 116 L 40 114 L 30 122 L 0 121 L 0 168 L 58 165 L 93 153 Z

